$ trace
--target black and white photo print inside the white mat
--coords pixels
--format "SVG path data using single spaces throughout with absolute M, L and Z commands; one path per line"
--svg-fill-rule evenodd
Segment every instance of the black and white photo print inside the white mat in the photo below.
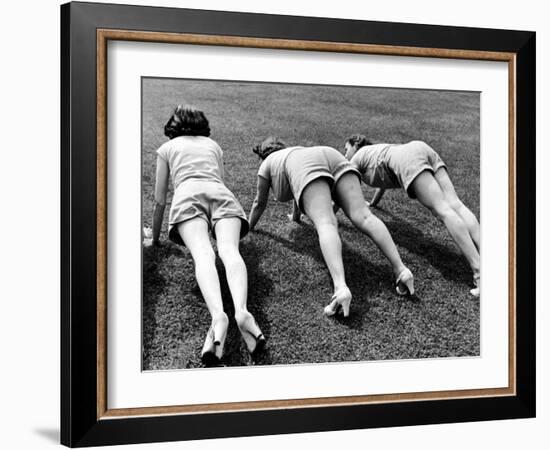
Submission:
M 143 77 L 142 370 L 480 355 L 480 93 Z

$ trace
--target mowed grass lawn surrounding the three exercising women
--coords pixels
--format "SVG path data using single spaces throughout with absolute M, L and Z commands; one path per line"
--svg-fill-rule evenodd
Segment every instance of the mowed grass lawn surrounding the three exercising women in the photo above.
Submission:
M 459 197 L 479 217 L 479 94 L 170 79 L 143 81 L 143 211 L 151 224 L 155 150 L 178 103 L 202 109 L 224 150 L 227 186 L 247 211 L 259 160 L 252 145 L 278 135 L 289 145 L 341 149 L 351 133 L 375 142 L 426 141 L 449 167 Z M 370 198 L 372 190 L 363 187 Z M 169 199 L 171 193 L 169 194 Z M 251 361 L 231 318 L 224 363 L 295 364 L 474 356 L 480 352 L 479 300 L 471 272 L 446 229 L 403 191 L 388 191 L 373 210 L 388 226 L 417 295 L 395 294 L 391 268 L 378 248 L 338 213 L 351 316 L 328 318 L 331 282 L 311 223 L 290 223 L 290 204 L 272 198 L 257 231 L 241 241 L 249 276 L 249 309 L 268 339 Z M 210 316 L 189 252 L 167 241 L 143 251 L 143 368 L 201 367 Z M 215 243 L 214 243 L 215 245 Z

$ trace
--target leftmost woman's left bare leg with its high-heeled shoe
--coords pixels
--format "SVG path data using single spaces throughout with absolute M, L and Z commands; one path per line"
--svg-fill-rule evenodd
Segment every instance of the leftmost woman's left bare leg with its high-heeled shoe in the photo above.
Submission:
M 216 255 L 210 244 L 208 223 L 197 217 L 180 223 L 178 232 L 191 252 L 195 262 L 197 283 L 212 316 L 212 326 L 204 343 L 203 355 L 213 352 L 216 357 L 221 358 L 229 321 L 223 311 Z

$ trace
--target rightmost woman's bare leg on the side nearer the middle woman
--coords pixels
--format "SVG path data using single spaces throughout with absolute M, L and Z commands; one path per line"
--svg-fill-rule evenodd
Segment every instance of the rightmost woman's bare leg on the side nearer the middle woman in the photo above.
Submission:
M 451 207 L 441 187 L 429 171 L 424 171 L 413 181 L 413 189 L 420 203 L 441 220 L 454 239 L 474 272 L 479 276 L 479 252 L 470 236 L 468 226 Z

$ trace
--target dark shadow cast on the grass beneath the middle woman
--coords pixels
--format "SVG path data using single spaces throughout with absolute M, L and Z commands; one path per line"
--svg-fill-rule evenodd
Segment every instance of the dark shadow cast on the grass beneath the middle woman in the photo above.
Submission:
M 309 255 L 324 263 L 321 249 L 318 245 L 315 228 L 307 223 L 295 227 L 291 233 L 291 239 L 273 234 L 269 231 L 258 230 L 258 234 L 273 239 L 289 250 Z M 314 245 L 311 245 L 311 243 Z M 346 281 L 352 292 L 352 313 L 349 317 L 334 316 L 333 320 L 353 329 L 361 329 L 369 321 L 368 313 L 371 308 L 379 304 L 369 301 L 368 298 L 381 292 L 393 292 L 393 275 L 390 266 L 387 267 L 372 264 L 364 255 L 342 241 L 342 259 L 346 272 Z M 329 274 L 327 273 L 327 276 Z M 328 299 L 327 299 L 328 300 Z M 327 301 L 328 303 L 328 301 Z

